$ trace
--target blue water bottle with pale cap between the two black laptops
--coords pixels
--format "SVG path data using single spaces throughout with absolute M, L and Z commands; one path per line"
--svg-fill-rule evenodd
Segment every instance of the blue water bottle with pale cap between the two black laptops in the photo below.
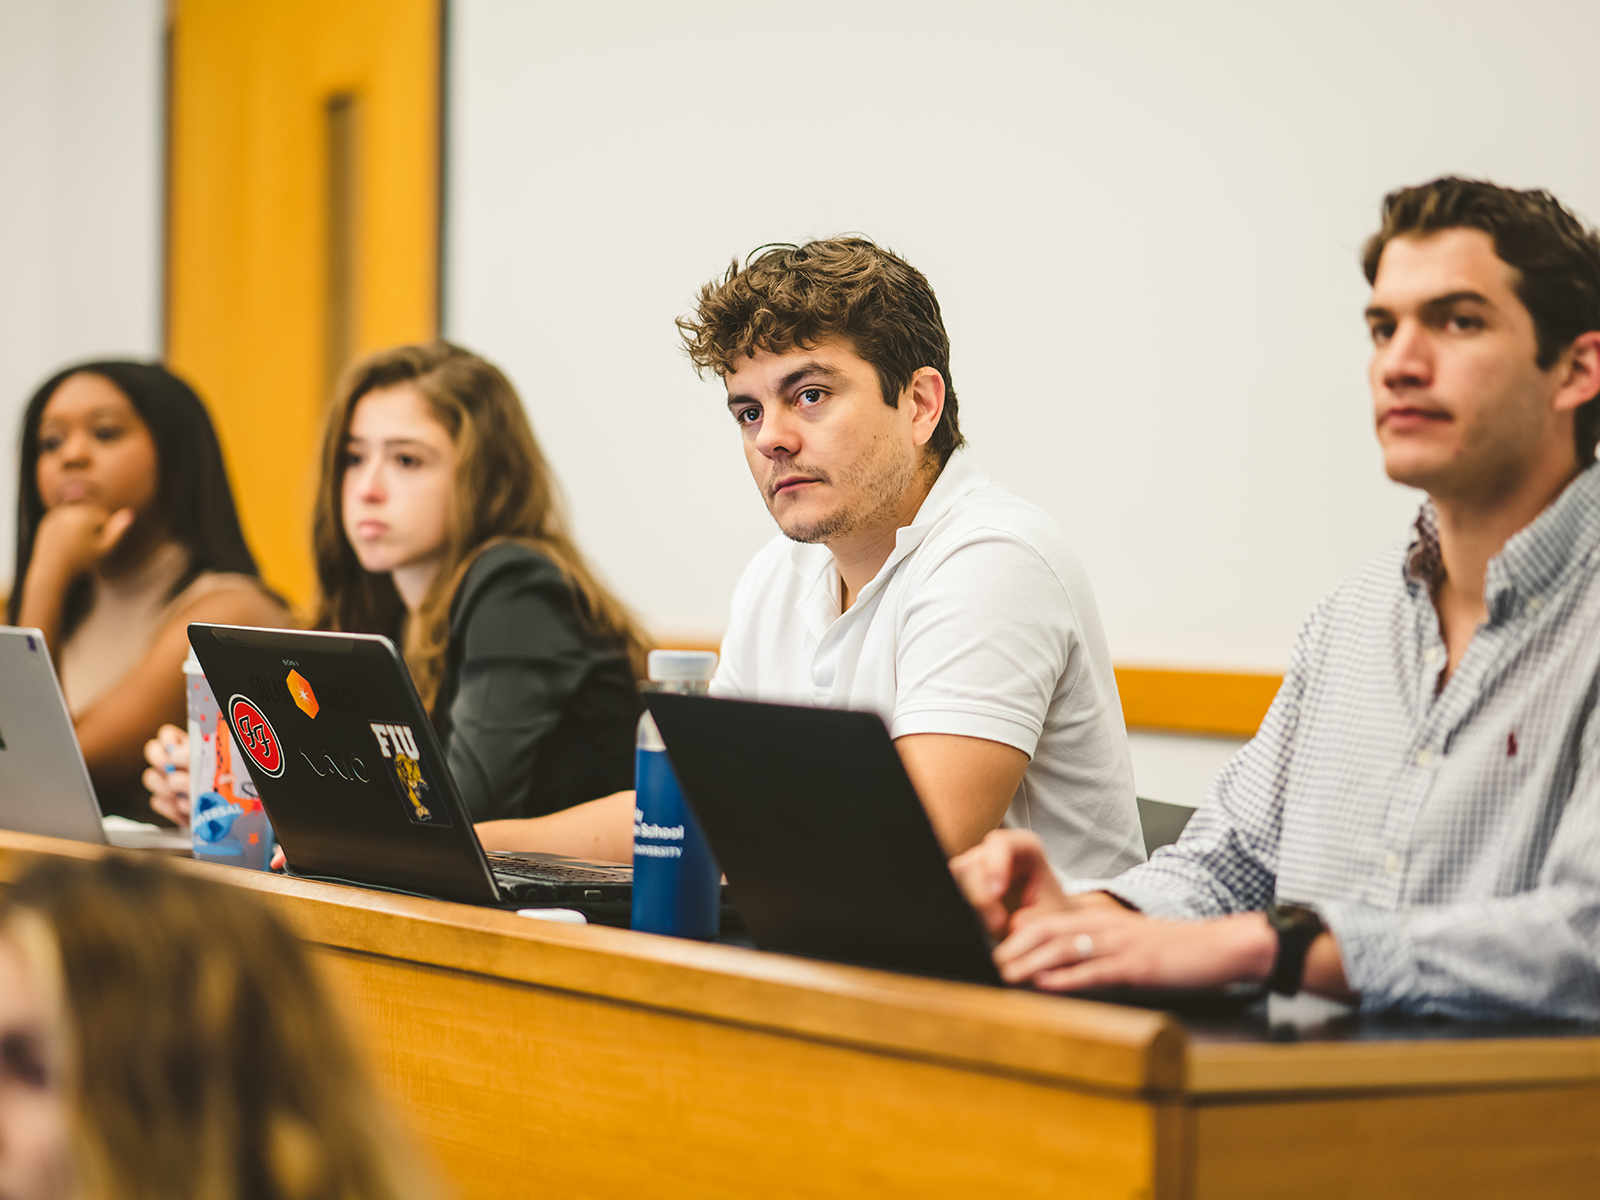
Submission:
M 704 696 L 717 656 L 702 650 L 651 650 L 656 691 Z M 710 854 L 667 747 L 646 712 L 638 718 L 634 755 L 634 928 L 675 938 L 715 938 L 722 869 Z

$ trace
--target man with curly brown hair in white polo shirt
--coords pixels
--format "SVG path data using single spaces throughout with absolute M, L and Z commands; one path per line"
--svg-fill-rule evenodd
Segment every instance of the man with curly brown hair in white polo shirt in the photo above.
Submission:
M 782 530 L 734 592 L 714 694 L 878 712 L 950 854 L 1005 822 L 1064 872 L 1142 861 L 1093 592 L 1056 523 L 962 450 L 928 280 L 864 238 L 771 246 L 678 326 Z M 480 835 L 626 859 L 632 808 Z

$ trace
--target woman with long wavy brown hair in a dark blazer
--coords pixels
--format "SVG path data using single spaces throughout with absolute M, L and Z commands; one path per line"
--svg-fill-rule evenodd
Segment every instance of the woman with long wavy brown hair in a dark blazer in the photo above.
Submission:
M 510 381 L 451 346 L 355 363 L 328 413 L 314 627 L 398 643 L 474 821 L 634 786 L 646 642 L 578 552 Z M 146 786 L 174 819 L 186 739 Z M 176 754 L 174 754 L 176 750 Z

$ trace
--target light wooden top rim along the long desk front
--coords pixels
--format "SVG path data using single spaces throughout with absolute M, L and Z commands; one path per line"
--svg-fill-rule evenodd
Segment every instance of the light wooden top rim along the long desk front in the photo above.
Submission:
M 0 882 L 29 856 L 114 851 L 0 832 Z M 314 944 L 470 971 L 702 1019 L 966 1069 L 1139 1094 L 1182 1088 L 1182 1027 L 1163 1013 L 891 971 L 533 922 L 510 912 L 178 861 L 267 896 Z

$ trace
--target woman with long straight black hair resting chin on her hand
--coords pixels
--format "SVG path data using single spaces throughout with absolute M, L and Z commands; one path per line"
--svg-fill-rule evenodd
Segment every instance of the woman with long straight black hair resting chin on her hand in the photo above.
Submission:
M 141 750 L 184 718 L 187 624 L 288 621 L 205 405 L 166 368 L 82 363 L 34 394 L 6 621 L 43 630 L 102 811 L 149 818 Z

